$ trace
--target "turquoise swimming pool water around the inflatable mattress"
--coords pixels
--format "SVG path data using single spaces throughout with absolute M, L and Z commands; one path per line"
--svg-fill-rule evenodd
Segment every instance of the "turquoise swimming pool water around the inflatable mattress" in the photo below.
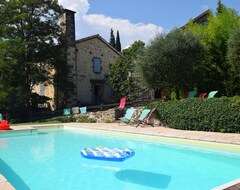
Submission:
M 91 131 L 91 130 L 90 130 Z M 131 148 L 124 162 L 81 157 L 86 147 Z M 240 178 L 240 156 L 73 130 L 0 138 L 0 173 L 17 190 L 209 190 Z

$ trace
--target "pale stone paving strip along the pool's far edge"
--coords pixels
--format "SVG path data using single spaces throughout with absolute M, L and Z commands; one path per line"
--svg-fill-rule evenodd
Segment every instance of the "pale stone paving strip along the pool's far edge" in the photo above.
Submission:
M 43 124 L 43 125 L 26 125 L 26 126 L 12 126 L 12 131 L 0 131 L 1 133 L 9 133 L 13 131 L 30 131 L 34 133 L 35 128 L 45 128 L 45 127 L 60 127 L 60 126 L 79 126 L 84 128 L 94 128 L 110 131 L 120 131 L 120 132 L 130 132 L 136 134 L 145 135 L 157 135 L 162 137 L 174 137 L 182 139 L 191 139 L 199 141 L 209 141 L 209 142 L 219 142 L 227 144 L 237 144 L 240 145 L 240 134 L 236 133 L 218 133 L 218 132 L 206 132 L 206 131 L 186 131 L 171 129 L 163 126 L 138 126 L 136 125 L 119 125 L 118 123 L 62 123 L 62 124 Z

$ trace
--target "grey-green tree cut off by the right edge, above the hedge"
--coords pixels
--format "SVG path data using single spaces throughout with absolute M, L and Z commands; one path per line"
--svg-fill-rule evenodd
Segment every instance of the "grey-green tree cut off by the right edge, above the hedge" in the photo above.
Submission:
M 240 93 L 240 25 L 236 26 L 228 39 L 227 59 L 230 64 L 228 83 L 230 94 L 239 95 Z

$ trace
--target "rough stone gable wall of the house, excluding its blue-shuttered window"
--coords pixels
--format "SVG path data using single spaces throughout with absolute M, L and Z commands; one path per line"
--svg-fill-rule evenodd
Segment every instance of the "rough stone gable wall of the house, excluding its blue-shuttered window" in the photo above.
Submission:
M 110 64 L 120 56 L 100 35 L 76 41 L 77 100 L 80 105 L 111 103 L 116 97 L 106 79 Z M 100 72 L 94 72 L 94 59 L 100 63 Z

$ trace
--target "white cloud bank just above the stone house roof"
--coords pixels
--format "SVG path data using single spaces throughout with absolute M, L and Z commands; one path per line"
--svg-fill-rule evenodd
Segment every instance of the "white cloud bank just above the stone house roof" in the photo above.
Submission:
M 90 5 L 88 0 L 59 0 L 64 8 L 76 11 L 76 36 L 77 39 L 94 34 L 100 34 L 109 41 L 110 30 L 119 30 L 122 48 L 136 40 L 149 42 L 157 33 L 164 29 L 154 24 L 131 23 L 127 19 L 111 18 L 101 14 L 87 14 Z

